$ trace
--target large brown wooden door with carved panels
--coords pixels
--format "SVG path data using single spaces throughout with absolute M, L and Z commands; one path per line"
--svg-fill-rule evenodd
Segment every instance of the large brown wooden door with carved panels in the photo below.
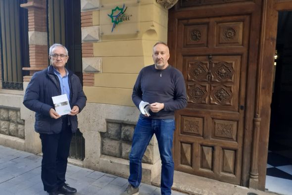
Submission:
M 171 63 L 188 96 L 187 108 L 176 112 L 175 169 L 241 185 L 250 35 L 259 32 L 251 29 L 255 3 L 220 7 L 212 0 L 216 6 L 192 11 L 191 2 L 180 0 L 169 12 Z

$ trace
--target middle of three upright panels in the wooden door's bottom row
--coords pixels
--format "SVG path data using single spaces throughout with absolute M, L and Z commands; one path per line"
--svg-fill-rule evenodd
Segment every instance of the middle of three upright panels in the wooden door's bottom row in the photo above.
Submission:
M 199 158 L 201 169 L 213 170 L 213 147 L 201 146 Z

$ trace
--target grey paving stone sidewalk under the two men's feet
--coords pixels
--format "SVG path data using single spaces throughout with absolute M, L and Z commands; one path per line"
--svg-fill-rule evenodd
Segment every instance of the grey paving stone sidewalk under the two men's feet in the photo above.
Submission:
M 42 156 L 0 146 L 0 195 L 46 195 L 41 180 Z M 66 183 L 76 195 L 119 195 L 128 181 L 114 175 L 68 164 Z M 140 195 L 160 195 L 160 188 L 141 184 Z M 173 191 L 172 195 L 185 195 Z

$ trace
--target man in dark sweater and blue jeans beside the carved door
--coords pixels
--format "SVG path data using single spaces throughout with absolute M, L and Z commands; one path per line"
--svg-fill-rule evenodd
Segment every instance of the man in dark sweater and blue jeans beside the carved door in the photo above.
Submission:
M 142 180 L 142 158 L 153 134 L 161 159 L 161 195 L 171 195 L 174 162 L 172 143 L 175 129 L 174 111 L 187 106 L 183 74 L 168 64 L 169 49 L 165 43 L 153 46 L 154 64 L 144 67 L 136 80 L 132 99 L 140 109 L 130 159 L 129 185 L 122 195 L 138 195 Z

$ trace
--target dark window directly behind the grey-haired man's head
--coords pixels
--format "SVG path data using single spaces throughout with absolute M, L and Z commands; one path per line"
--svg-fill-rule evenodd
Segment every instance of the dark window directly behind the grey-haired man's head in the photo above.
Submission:
M 82 82 L 80 0 L 49 0 L 49 46 L 62 44 L 69 51 L 67 67 Z

